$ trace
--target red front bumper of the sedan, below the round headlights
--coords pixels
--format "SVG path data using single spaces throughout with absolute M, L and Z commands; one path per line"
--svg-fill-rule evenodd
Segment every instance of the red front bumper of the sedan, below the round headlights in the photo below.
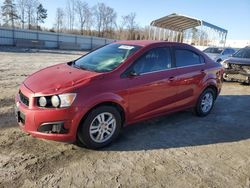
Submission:
M 35 106 L 34 94 L 24 85 L 20 91 L 29 98 L 29 105 L 16 95 L 15 111 L 20 128 L 34 137 L 74 142 L 78 125 L 85 113 L 78 106 L 69 108 L 39 108 Z M 56 124 L 57 126 L 53 126 Z M 51 130 L 49 130 L 51 127 Z M 58 130 L 54 130 L 55 128 Z

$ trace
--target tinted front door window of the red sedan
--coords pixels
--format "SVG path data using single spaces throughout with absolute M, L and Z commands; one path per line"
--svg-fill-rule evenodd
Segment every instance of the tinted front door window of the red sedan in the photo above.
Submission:
M 171 54 L 169 48 L 155 48 L 141 56 L 134 65 L 138 74 L 160 71 L 171 68 Z

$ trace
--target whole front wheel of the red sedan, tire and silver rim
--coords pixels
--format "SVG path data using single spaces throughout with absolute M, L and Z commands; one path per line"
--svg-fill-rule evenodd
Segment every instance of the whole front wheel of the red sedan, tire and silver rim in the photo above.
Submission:
M 112 106 L 93 109 L 79 125 L 77 141 L 90 149 L 102 148 L 116 139 L 122 127 L 121 115 Z

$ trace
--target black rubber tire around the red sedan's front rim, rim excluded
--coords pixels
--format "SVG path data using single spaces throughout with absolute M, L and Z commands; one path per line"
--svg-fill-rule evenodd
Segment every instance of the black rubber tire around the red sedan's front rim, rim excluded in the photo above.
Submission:
M 91 137 L 90 133 L 90 127 L 91 123 L 97 118 L 98 115 L 102 113 L 109 113 L 113 115 L 113 118 L 116 121 L 116 126 L 114 128 L 114 132 L 112 133 L 112 136 L 102 142 L 96 142 L 93 138 Z M 95 109 L 93 109 L 85 118 L 85 120 L 79 125 L 78 131 L 77 131 L 77 141 L 79 146 L 84 146 L 86 148 L 90 149 L 97 149 L 97 148 L 102 148 L 104 146 L 107 146 L 110 144 L 114 139 L 116 139 L 120 133 L 122 127 L 122 120 L 121 120 L 121 115 L 119 111 L 112 107 L 112 106 L 100 106 Z M 98 133 L 97 133 L 98 134 Z M 106 135 L 107 136 L 107 135 Z

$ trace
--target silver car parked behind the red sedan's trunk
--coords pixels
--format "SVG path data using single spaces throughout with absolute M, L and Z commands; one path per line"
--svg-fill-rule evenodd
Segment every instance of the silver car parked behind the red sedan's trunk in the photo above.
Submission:
M 217 47 L 209 47 L 203 50 L 205 54 L 207 54 L 212 60 L 218 63 L 228 58 L 230 55 L 234 54 L 235 51 L 236 50 L 233 48 L 217 48 Z

